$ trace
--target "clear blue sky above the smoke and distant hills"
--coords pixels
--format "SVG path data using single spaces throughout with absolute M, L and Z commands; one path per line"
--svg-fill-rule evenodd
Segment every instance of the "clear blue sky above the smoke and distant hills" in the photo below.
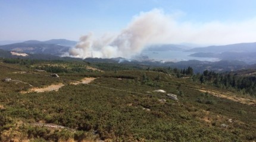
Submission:
M 78 41 L 89 32 L 96 35 L 118 33 L 135 15 L 155 8 L 175 17 L 177 24 L 236 24 L 254 21 L 255 7 L 254 0 L 0 0 L 0 40 L 67 38 Z

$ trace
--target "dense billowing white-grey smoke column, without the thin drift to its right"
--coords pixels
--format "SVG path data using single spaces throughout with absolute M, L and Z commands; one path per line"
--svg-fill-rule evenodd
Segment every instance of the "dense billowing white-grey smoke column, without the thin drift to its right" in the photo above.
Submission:
M 170 24 L 169 18 L 158 9 L 142 12 L 116 37 L 104 36 L 94 40 L 91 33 L 81 37 L 77 46 L 70 50 L 70 55 L 82 58 L 129 58 L 141 53 L 147 45 L 163 39 Z

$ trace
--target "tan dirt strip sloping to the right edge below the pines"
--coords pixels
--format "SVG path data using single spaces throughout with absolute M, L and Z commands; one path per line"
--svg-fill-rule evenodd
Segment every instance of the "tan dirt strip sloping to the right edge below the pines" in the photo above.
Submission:
M 241 104 L 247 104 L 247 105 L 256 105 L 256 99 L 254 98 L 243 98 L 242 96 L 236 96 L 235 94 L 232 94 L 232 92 L 229 93 L 220 93 L 218 91 L 208 91 L 205 89 L 198 89 L 201 92 L 208 92 L 211 95 L 217 96 L 219 98 L 226 98 L 229 99 L 231 101 L 235 101 L 235 102 L 240 102 Z

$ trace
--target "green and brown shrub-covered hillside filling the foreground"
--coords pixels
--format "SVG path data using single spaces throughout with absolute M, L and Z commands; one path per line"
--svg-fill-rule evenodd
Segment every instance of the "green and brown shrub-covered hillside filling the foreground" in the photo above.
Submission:
M 256 140 L 255 104 L 212 92 L 254 96 L 200 82 L 192 68 L 25 59 L 0 65 L 0 79 L 26 82 L 0 81 L 0 141 Z M 96 79 L 72 84 L 89 77 Z M 58 91 L 21 93 L 60 83 Z

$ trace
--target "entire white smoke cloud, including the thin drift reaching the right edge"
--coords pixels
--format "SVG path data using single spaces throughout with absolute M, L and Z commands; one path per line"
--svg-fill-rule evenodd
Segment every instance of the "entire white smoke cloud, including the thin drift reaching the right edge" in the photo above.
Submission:
M 164 14 L 161 9 L 133 17 L 130 24 L 115 36 L 94 38 L 92 33 L 80 38 L 70 49 L 73 57 L 125 57 L 141 53 L 151 44 L 229 44 L 253 42 L 256 37 L 256 19 L 240 23 L 177 22 L 175 16 Z

